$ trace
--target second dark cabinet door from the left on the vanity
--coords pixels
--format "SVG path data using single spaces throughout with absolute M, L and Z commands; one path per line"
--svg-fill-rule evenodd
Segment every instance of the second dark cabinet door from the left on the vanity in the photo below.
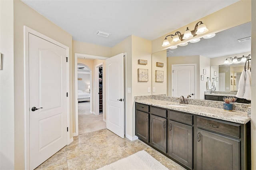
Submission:
M 166 118 L 150 115 L 150 144 L 166 153 Z

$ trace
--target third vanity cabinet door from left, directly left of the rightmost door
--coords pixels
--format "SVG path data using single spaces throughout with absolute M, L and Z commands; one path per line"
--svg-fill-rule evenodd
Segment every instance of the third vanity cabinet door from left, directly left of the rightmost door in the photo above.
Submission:
M 193 168 L 193 127 L 169 120 L 168 155 Z

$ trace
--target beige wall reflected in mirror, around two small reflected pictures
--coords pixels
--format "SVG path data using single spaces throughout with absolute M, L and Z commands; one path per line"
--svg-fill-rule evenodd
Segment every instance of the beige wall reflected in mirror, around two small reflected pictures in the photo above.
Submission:
M 156 67 L 156 62 L 164 63 L 164 67 Z M 156 82 L 156 70 L 164 71 L 164 82 Z M 153 92 L 155 87 L 156 91 Z M 167 56 L 166 50 L 152 54 L 152 95 L 167 94 Z

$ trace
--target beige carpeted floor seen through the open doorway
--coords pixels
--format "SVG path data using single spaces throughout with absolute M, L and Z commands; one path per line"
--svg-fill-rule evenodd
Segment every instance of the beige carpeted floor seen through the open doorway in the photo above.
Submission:
M 78 134 L 94 132 L 106 128 L 102 113 L 94 115 L 90 113 L 90 102 L 78 103 Z

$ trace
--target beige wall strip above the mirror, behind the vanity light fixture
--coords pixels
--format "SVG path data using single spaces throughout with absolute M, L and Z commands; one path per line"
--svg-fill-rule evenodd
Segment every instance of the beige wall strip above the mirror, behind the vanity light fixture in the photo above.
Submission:
M 185 32 L 186 28 L 194 28 L 198 21 L 204 22 L 209 32 L 206 34 L 216 33 L 240 24 L 251 21 L 251 2 L 250 0 L 240 0 L 226 8 L 218 10 L 206 17 L 196 20 L 186 26 L 183 26 L 177 30 L 169 32 L 168 34 L 161 36 L 152 41 L 152 53 L 162 51 L 163 49 L 168 49 L 168 47 L 162 47 L 164 38 L 167 35 L 175 34 L 175 32 L 180 31 L 182 34 Z M 168 28 L 167 28 L 168 29 Z M 202 38 L 206 34 L 197 35 L 196 38 Z M 184 42 L 189 42 L 190 40 L 185 40 Z

